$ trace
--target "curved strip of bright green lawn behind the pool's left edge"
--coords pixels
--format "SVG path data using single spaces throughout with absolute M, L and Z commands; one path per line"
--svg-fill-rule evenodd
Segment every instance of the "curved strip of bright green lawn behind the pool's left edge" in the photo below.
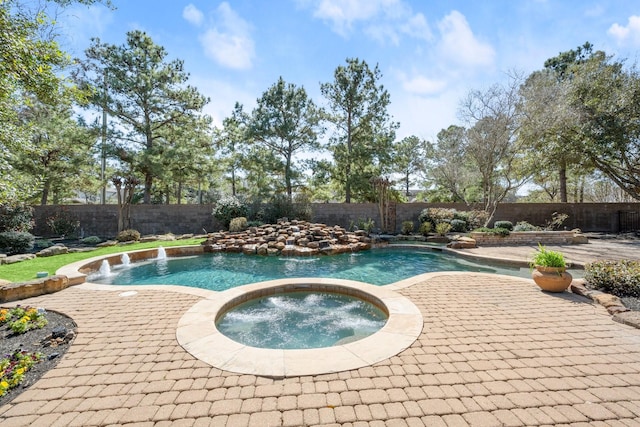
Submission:
M 170 246 L 189 246 L 199 245 L 204 239 L 185 239 L 185 240 L 173 240 L 163 242 L 146 242 L 146 243 L 134 243 L 130 245 L 117 245 L 109 246 L 106 248 L 99 248 L 90 252 L 78 252 L 65 255 L 54 255 L 51 257 L 36 257 L 34 259 L 22 262 L 16 262 L 15 264 L 3 264 L 0 265 L 0 279 L 9 280 L 11 282 L 24 282 L 27 280 L 33 280 L 36 278 L 36 274 L 39 271 L 46 271 L 49 275 L 55 274 L 56 270 L 60 267 L 71 264 L 72 262 L 81 261 L 87 258 L 93 258 L 94 256 L 109 255 L 118 252 L 135 251 L 138 249 L 157 248 L 158 246 L 170 247 Z

